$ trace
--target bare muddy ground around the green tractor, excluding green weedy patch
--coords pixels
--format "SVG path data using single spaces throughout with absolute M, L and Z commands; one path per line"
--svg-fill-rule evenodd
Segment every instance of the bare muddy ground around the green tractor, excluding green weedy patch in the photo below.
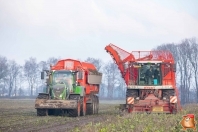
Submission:
M 0 132 L 65 132 L 75 129 L 76 126 L 106 121 L 107 114 L 117 114 L 115 104 L 120 102 L 111 101 L 108 104 L 107 101 L 101 101 L 101 103 L 98 115 L 76 118 L 67 116 L 38 117 L 34 109 L 34 100 L 0 100 Z

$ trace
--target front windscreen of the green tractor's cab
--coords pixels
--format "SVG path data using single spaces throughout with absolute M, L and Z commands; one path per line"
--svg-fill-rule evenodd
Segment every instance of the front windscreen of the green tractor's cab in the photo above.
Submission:
M 53 74 L 53 84 L 66 84 L 72 87 L 73 74 L 71 72 L 55 72 Z

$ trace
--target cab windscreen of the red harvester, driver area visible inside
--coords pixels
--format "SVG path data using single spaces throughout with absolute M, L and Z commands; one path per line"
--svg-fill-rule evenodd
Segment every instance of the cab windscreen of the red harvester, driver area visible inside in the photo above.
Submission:
M 160 64 L 141 64 L 139 68 L 139 85 L 160 85 Z

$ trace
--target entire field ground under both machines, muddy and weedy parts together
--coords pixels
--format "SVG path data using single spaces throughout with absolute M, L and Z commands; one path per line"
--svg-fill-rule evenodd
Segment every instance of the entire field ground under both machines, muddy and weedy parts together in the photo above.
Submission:
M 82 117 L 38 117 L 33 99 L 0 100 L 0 132 L 179 132 L 186 114 L 195 114 L 198 105 L 189 104 L 182 112 L 170 114 L 123 114 L 117 106 L 123 101 L 100 101 L 99 114 Z M 197 125 L 198 128 L 198 125 Z M 192 131 L 188 129 L 187 131 Z

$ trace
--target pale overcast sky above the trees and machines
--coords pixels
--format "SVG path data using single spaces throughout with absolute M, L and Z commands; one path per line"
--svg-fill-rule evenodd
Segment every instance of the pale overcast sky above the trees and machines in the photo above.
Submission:
M 0 0 L 0 55 L 111 60 L 126 51 L 198 38 L 197 0 Z

